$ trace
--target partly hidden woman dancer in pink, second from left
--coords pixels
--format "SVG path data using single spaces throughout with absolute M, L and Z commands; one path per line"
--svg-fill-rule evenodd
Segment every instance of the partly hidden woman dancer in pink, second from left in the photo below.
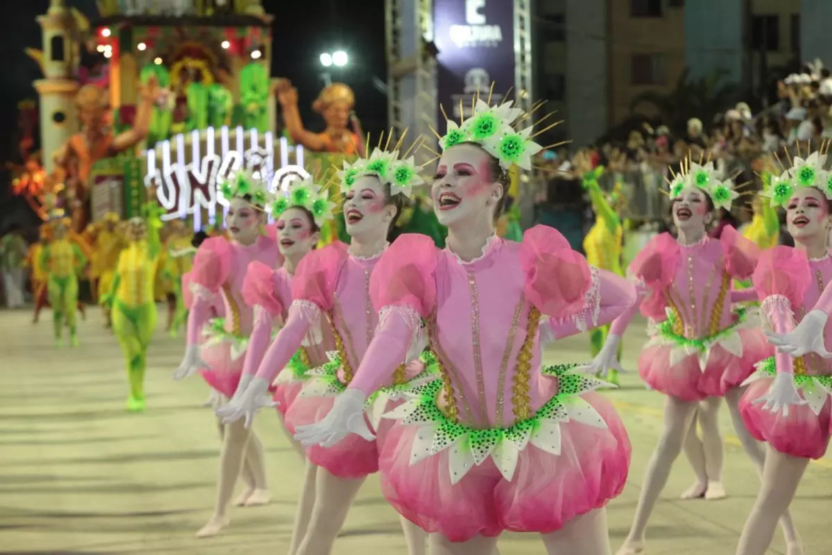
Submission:
M 300 260 L 318 244 L 320 230 L 332 214 L 334 205 L 320 190 L 321 188 L 311 179 L 294 181 L 289 186 L 287 194 L 279 196 L 271 206 L 271 215 L 277 219 L 275 230 L 280 254 L 285 260 L 277 270 L 272 270 L 270 266 L 259 261 L 252 262 L 245 274 L 243 297 L 248 305 L 254 307 L 255 323 L 245 352 L 243 377 L 238 387 L 240 392 L 245 390 L 250 379 L 257 373 L 273 337 L 272 330 L 280 329 L 289 318 L 289 308 L 292 304 L 291 282 L 295 270 Z M 304 339 L 304 346 L 298 349 L 275 379 L 272 388 L 281 419 L 285 418 L 286 411 L 303 389 L 307 380 L 306 373 L 329 360 L 326 353 L 334 349 L 332 334 L 325 328 L 321 331 L 322 340 L 315 344 L 314 338 L 308 336 Z M 295 442 L 295 448 L 306 459 L 300 444 Z M 289 555 L 295 555 L 309 526 L 314 503 L 316 468 L 306 459 L 304 484 L 295 513 Z

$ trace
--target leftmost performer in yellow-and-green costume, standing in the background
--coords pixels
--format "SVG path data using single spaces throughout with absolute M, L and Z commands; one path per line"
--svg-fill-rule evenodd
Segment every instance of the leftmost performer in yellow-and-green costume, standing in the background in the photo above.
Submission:
M 78 276 L 87 265 L 87 256 L 77 243 L 67 238 L 71 225 L 69 218 L 62 218 L 52 225 L 52 240 L 43 249 L 41 264 L 47 270 L 47 293 L 52 305 L 55 341 L 58 345 L 62 344 L 62 330 L 66 324 L 69 343 L 77 347 Z

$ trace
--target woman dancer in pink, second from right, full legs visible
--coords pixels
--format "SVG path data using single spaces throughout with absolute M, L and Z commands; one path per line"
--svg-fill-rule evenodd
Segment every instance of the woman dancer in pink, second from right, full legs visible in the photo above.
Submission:
M 632 261 L 630 271 L 646 285 L 648 295 L 641 313 L 661 321 L 641 350 L 638 372 L 647 385 L 666 395 L 665 429 L 647 466 L 641 498 L 632 528 L 618 555 L 644 551 L 647 520 L 667 483 L 671 466 L 681 452 L 700 402 L 725 397 L 736 434 L 758 469 L 763 453 L 740 417 L 740 384 L 754 371 L 754 364 L 771 353 L 762 330 L 751 327 L 745 310 L 732 303 L 754 298 L 749 292 L 732 291 L 732 280 L 747 279 L 754 270 L 756 245 L 726 226 L 719 240 L 706 234 L 715 206 L 730 210 L 738 196 L 731 181 L 721 181 L 712 163 L 701 166 L 684 161 L 683 171 L 671 182 L 673 221 L 678 238 L 656 236 Z M 612 325 L 592 370 L 620 368 L 617 344 L 635 315 L 634 306 Z M 716 410 L 699 411 L 709 436 L 717 438 Z M 711 421 L 712 420 L 712 421 Z M 783 521 L 786 542 L 800 546 L 794 526 Z M 790 553 L 797 553 L 790 551 Z

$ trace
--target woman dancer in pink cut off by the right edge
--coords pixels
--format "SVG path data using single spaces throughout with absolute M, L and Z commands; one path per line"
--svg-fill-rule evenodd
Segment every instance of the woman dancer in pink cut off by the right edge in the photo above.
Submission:
M 763 485 L 737 555 L 768 550 L 774 523 L 794 498 L 806 465 L 823 457 L 830 442 L 832 259 L 826 241 L 832 174 L 824 170 L 825 161 L 819 152 L 805 160 L 796 156 L 764 193 L 772 206 L 785 207 L 795 247 L 766 250 L 754 272 L 763 314 L 774 332 L 768 332 L 770 342 L 778 349 L 758 364 L 740 401 L 745 425 L 769 448 Z

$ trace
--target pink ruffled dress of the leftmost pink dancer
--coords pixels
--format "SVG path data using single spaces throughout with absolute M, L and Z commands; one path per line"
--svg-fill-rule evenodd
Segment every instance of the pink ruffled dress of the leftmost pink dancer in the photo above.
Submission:
M 191 270 L 194 295 L 188 314 L 188 344 L 200 344 L 208 364 L 202 377 L 214 389 L 231 397 L 240 383 L 245 349 L 254 326 L 254 309 L 243 298 L 243 280 L 251 262 L 275 267 L 282 263 L 277 241 L 260 236 L 243 246 L 224 237 L 211 237 L 196 251 Z M 211 307 L 221 299 L 225 317 L 211 318 Z

